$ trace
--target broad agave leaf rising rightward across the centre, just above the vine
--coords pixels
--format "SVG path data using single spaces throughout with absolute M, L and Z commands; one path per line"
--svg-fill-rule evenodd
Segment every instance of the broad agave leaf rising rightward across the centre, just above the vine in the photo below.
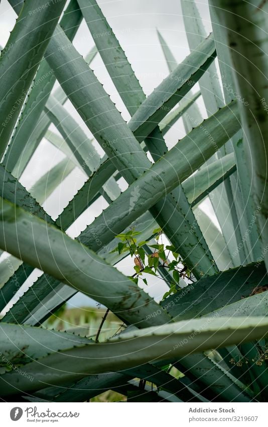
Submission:
M 232 111 L 232 113 L 230 113 L 230 111 Z M 131 221 L 135 220 L 146 209 L 152 207 L 152 205 L 161 198 L 161 195 L 164 196 L 166 193 L 169 193 L 176 188 L 179 182 L 183 182 L 206 160 L 206 158 L 209 158 L 215 152 L 213 144 L 210 140 L 204 137 L 203 129 L 205 129 L 205 132 L 207 132 L 214 142 L 217 141 L 218 148 L 226 142 L 228 136 L 233 131 L 235 132 L 237 127 L 239 127 L 237 119 L 235 116 L 232 116 L 233 113 L 234 115 L 236 114 L 236 107 L 234 104 L 219 110 L 215 116 L 207 119 L 207 121 L 200 127 L 195 128 L 191 134 L 186 135 L 185 138 L 179 141 L 175 147 L 166 153 L 165 156 L 157 161 L 141 178 L 128 187 L 128 189 L 121 194 L 121 196 L 113 202 L 112 205 L 103 211 L 103 213 L 94 221 L 94 225 L 92 224 L 95 231 L 98 230 L 96 225 L 99 225 L 100 231 L 96 232 L 96 234 L 99 237 L 101 235 L 102 241 L 105 241 L 106 243 L 114 233 L 118 234 L 122 228 L 129 225 Z M 230 114 L 233 117 L 233 121 Z M 201 157 L 198 158 L 199 154 L 195 156 L 195 159 L 192 159 L 195 144 L 199 147 L 199 153 L 202 153 L 202 159 Z M 186 164 L 184 165 L 183 159 L 186 158 L 187 161 L 185 161 Z M 188 161 L 190 162 L 191 167 L 189 167 Z M 158 181 L 157 187 L 156 180 Z M 162 185 L 163 193 L 161 193 Z M 133 197 L 133 194 L 136 194 L 137 189 L 139 190 L 140 203 L 132 204 L 132 206 L 130 204 L 130 198 Z M 154 193 L 156 193 L 156 198 Z M 148 198 L 148 194 L 150 194 L 150 198 Z M 141 201 L 143 201 L 143 203 L 141 203 Z M 117 209 L 118 203 L 120 204 L 119 210 Z M 161 202 L 159 202 L 159 205 L 157 206 L 160 206 L 160 204 L 161 208 L 163 208 Z M 117 218 L 114 220 L 114 215 L 110 213 L 115 211 Z M 120 211 L 119 217 L 118 211 Z M 109 229 L 103 226 L 103 221 L 106 222 L 106 225 L 109 224 Z M 81 234 L 80 239 L 81 241 L 86 242 L 86 244 L 89 244 L 90 247 L 94 248 L 95 242 L 90 236 L 89 230 L 90 227 L 87 233 L 84 232 Z

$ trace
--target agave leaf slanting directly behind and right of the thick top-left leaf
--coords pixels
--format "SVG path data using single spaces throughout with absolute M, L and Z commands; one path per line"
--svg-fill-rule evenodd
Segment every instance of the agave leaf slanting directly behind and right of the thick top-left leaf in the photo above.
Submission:
M 16 2 L 10 3 L 14 7 L 14 3 Z M 16 8 L 16 12 L 19 12 L 18 8 Z M 76 0 L 71 0 L 60 21 L 62 29 L 66 32 L 70 40 L 73 40 L 81 21 L 82 15 L 78 4 Z M 33 132 L 55 81 L 56 77 L 46 60 L 43 58 L 4 159 L 6 167 L 15 174 L 16 170 L 14 169 L 18 159 L 22 157 L 20 158 L 20 171 L 22 167 L 25 167 L 26 154 L 31 152 L 35 147 L 35 139 L 32 138 Z M 23 144 L 22 141 L 24 141 Z M 16 174 L 16 177 L 20 177 L 20 175 Z

